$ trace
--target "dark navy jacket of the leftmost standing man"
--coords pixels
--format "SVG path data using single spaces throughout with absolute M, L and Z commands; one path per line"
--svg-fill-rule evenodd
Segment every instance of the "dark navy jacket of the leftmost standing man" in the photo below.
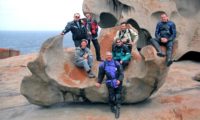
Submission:
M 78 26 L 76 21 L 68 22 L 67 25 L 65 26 L 65 29 L 62 32 L 66 34 L 69 31 L 71 31 L 73 40 L 87 39 L 87 31 L 84 24 L 82 23 L 81 20 L 79 20 L 78 23 L 80 27 Z

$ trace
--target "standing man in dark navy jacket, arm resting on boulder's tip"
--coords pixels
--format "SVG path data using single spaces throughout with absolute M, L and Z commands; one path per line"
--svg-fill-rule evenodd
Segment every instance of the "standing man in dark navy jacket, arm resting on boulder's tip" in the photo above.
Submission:
M 87 39 L 87 31 L 83 21 L 80 19 L 80 14 L 74 14 L 74 20 L 68 22 L 65 29 L 62 31 L 61 35 L 65 35 L 71 31 L 72 39 L 74 41 L 75 47 L 79 47 L 82 39 Z

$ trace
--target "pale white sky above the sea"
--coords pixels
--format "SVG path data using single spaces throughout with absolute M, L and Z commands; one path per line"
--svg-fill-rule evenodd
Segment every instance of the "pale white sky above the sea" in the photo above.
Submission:
M 63 30 L 83 0 L 0 0 L 0 30 Z

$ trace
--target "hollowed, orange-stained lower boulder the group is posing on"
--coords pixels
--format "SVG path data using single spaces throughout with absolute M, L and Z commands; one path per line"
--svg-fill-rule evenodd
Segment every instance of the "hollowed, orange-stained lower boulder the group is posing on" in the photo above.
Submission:
M 100 35 L 101 53 L 111 50 L 114 32 L 118 27 L 105 29 Z M 38 58 L 28 64 L 32 75 L 24 77 L 21 93 L 30 103 L 49 106 L 66 101 L 107 102 L 105 84 L 95 87 L 96 79 L 89 79 L 83 69 L 74 66 L 74 49 L 63 51 L 63 36 L 49 38 L 43 45 Z M 133 58 L 126 69 L 123 82 L 123 102 L 136 103 L 146 100 L 164 83 L 168 73 L 165 58 L 159 58 L 152 46 L 132 51 Z M 139 58 L 139 59 L 138 59 Z M 137 61 L 136 61 L 137 60 Z M 99 62 L 93 71 L 97 74 Z

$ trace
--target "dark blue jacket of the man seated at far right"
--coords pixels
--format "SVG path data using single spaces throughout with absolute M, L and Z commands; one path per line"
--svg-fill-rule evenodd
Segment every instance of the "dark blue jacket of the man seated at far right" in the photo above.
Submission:
M 174 22 L 159 22 L 156 26 L 155 37 L 158 39 L 164 37 L 169 41 L 173 41 L 176 38 L 176 25 Z

